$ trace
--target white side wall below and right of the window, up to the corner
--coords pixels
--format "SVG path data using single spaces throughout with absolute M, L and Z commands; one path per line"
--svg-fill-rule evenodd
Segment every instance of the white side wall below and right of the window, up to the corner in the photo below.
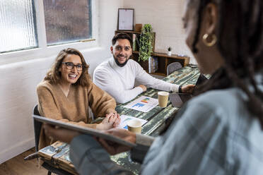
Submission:
M 81 49 L 90 64 L 91 74 L 110 56 L 110 39 L 117 26 L 117 9 L 123 5 L 123 0 L 96 1 L 98 44 Z M 58 53 L 54 51 L 55 48 L 52 54 L 47 53 L 49 56 L 35 55 L 35 59 L 25 58 L 26 52 L 19 52 L 21 54 L 9 60 L 0 55 L 0 164 L 35 146 L 32 120 L 33 107 L 37 104 L 35 87 L 54 61 Z

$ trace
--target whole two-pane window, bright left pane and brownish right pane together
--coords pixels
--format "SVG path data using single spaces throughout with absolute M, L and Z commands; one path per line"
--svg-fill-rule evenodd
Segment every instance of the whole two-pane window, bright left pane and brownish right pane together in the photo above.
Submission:
M 0 53 L 91 39 L 91 1 L 1 0 Z

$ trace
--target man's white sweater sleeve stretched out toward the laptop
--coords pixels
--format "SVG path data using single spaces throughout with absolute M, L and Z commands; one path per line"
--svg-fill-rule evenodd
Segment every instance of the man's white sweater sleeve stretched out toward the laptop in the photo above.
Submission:
M 168 83 L 150 76 L 136 61 L 134 61 L 134 68 L 136 69 L 136 80 L 142 85 L 146 85 L 146 87 L 151 87 L 156 90 L 178 92 L 179 85 Z

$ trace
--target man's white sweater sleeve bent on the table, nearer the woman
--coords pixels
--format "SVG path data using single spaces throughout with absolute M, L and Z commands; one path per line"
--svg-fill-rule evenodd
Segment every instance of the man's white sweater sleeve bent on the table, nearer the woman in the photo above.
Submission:
M 122 82 L 115 83 L 112 79 L 114 76 L 105 71 L 95 71 L 93 81 L 95 85 L 98 85 L 102 90 L 105 90 L 108 94 L 115 98 L 117 103 L 126 103 L 131 99 L 134 99 L 137 95 L 143 92 L 141 87 L 134 87 L 131 90 L 124 90 Z

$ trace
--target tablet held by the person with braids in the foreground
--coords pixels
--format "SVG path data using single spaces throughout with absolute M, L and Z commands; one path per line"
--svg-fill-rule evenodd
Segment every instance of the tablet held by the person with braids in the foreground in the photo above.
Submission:
M 130 143 L 130 142 L 126 141 L 126 140 L 123 140 L 122 138 L 116 137 L 115 135 L 110 135 L 110 134 L 107 134 L 107 133 L 103 133 L 103 131 L 100 131 L 100 130 L 97 130 L 97 129 L 86 128 L 86 127 L 83 127 L 83 126 L 77 126 L 77 125 L 74 125 L 74 124 L 71 124 L 71 123 L 65 123 L 65 122 L 62 122 L 62 121 L 49 119 L 49 118 L 44 117 L 44 116 L 33 115 L 33 118 L 36 121 L 40 121 L 42 123 L 47 123 L 47 124 L 50 124 L 50 125 L 53 125 L 53 126 L 59 126 L 59 127 L 62 127 L 62 128 L 66 128 L 66 129 L 72 130 L 72 131 L 78 131 L 78 132 L 83 133 L 83 134 L 93 135 L 95 137 L 103 138 L 105 140 L 110 140 L 112 142 L 119 143 L 119 144 L 122 144 L 122 145 L 127 145 L 129 147 L 135 147 L 136 146 L 135 143 Z

